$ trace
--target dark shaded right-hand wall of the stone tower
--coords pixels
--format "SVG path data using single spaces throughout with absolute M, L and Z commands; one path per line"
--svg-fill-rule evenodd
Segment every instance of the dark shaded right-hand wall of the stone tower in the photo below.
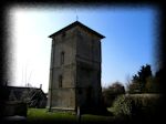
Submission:
M 77 28 L 76 86 L 80 105 L 98 104 L 101 95 L 101 41 Z

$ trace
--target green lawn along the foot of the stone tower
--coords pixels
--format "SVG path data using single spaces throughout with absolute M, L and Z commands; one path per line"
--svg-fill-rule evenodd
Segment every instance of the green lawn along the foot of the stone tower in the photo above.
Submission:
M 81 123 L 111 123 L 114 122 L 114 116 L 104 116 L 104 115 L 91 115 L 83 114 L 81 116 Z M 29 108 L 28 110 L 28 122 L 35 123 L 77 123 L 76 115 L 72 113 L 58 113 L 58 112 L 48 112 L 46 108 Z

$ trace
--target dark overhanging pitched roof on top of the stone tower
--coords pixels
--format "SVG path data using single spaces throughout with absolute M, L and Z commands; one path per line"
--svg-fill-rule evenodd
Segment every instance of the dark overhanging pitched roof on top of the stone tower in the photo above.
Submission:
M 56 34 L 60 34 L 60 33 L 62 33 L 63 31 L 66 31 L 66 30 L 73 28 L 73 27 L 76 27 L 76 25 L 79 25 L 79 27 L 81 27 L 81 28 L 83 28 L 83 29 L 85 29 L 85 30 L 92 32 L 93 34 L 100 37 L 101 39 L 105 38 L 104 35 L 97 33 L 96 31 L 90 29 L 89 27 L 84 25 L 83 23 L 81 23 L 81 22 L 79 22 L 79 21 L 75 21 L 75 22 L 71 23 L 70 25 L 66 25 L 65 28 L 59 30 L 58 32 L 55 32 L 55 33 L 49 35 L 49 38 L 52 38 L 52 37 L 56 35 Z

